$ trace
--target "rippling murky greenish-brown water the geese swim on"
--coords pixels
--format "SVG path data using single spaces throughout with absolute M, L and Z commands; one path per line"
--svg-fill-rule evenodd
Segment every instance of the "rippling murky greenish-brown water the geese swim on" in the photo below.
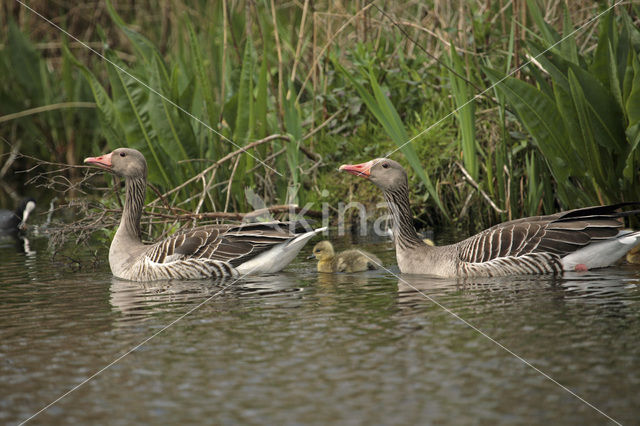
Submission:
M 609 422 L 486 336 L 613 419 L 640 418 L 633 266 L 399 280 L 317 274 L 304 260 L 310 244 L 280 274 L 141 285 L 104 262 L 52 261 L 46 241 L 30 242 L 27 253 L 0 243 L 0 423 L 26 420 L 96 373 L 32 422 Z M 364 248 L 394 264 L 388 243 Z

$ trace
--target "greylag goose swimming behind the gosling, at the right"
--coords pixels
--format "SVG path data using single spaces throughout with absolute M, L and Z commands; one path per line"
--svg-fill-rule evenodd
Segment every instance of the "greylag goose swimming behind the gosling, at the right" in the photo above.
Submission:
M 413 227 L 407 173 L 400 164 L 377 158 L 345 164 L 340 170 L 370 180 L 384 194 L 393 218 L 400 271 L 442 277 L 559 274 L 612 265 L 640 239 L 640 232 L 621 230 L 625 203 L 587 207 L 548 216 L 512 220 L 447 246 L 425 244 Z

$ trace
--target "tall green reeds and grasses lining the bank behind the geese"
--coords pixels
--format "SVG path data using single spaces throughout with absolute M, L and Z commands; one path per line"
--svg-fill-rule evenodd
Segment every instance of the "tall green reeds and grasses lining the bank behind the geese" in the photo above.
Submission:
M 379 202 L 336 168 L 389 152 L 429 226 L 640 199 L 634 5 L 594 20 L 607 5 L 89 2 L 89 22 L 34 3 L 95 52 L 2 6 L 0 155 L 135 147 L 189 211 L 246 211 L 247 187 L 268 204 Z

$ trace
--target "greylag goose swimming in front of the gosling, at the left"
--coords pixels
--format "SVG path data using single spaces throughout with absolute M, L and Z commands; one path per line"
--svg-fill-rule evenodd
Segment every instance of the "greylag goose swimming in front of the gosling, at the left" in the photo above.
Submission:
M 118 278 L 133 281 L 222 278 L 277 272 L 304 244 L 325 228 L 299 232 L 300 223 L 262 222 L 210 225 L 143 244 L 140 217 L 147 185 L 147 162 L 135 149 L 85 158 L 124 177 L 126 198 L 120 226 L 109 248 L 109 266 Z

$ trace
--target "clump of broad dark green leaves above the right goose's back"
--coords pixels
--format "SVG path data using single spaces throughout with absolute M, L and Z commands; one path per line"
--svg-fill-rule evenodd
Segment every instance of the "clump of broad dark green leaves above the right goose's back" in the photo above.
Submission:
M 541 34 L 527 43 L 539 63 L 540 70 L 532 69 L 536 85 L 487 73 L 500 81 L 497 90 L 533 137 L 555 181 L 568 183 L 557 185 L 558 200 L 577 208 L 639 199 L 640 31 L 624 9 L 619 24 L 607 13 L 595 53 L 584 55 L 573 37 L 563 40 L 536 4 L 529 5 Z M 565 16 L 569 33 L 573 25 Z

